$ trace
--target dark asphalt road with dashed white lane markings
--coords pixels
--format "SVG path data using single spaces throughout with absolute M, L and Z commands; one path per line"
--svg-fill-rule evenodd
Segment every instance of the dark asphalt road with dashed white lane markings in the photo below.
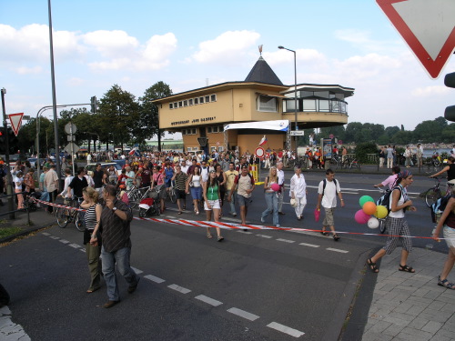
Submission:
M 319 229 L 312 211 L 314 187 L 323 173 L 305 176 L 309 196 L 303 224 L 286 205 L 282 226 Z M 370 233 L 353 216 L 359 197 L 375 193 L 367 190 L 379 176 L 337 177 L 347 204 L 336 212 L 337 229 Z M 431 183 L 419 178 L 414 185 L 419 193 Z M 288 191 L 286 198 L 288 202 Z M 411 230 L 428 236 L 430 213 L 421 200 L 416 205 Z M 164 217 L 177 218 L 175 206 L 169 206 Z M 260 224 L 263 209 L 262 189 L 257 188 L 248 221 Z M 192 213 L 178 217 L 202 218 Z M 225 216 L 223 221 L 238 219 Z M 119 278 L 122 302 L 111 309 L 101 308 L 105 287 L 85 293 L 86 256 L 75 226 L 54 226 L 1 247 L 1 281 L 13 297 L 13 320 L 32 340 L 334 340 L 367 255 L 385 242 L 384 236 L 343 235 L 335 242 L 319 233 L 271 230 L 223 230 L 222 243 L 205 235 L 199 226 L 135 220 L 131 263 L 141 281 L 128 295 Z M 428 241 L 416 239 L 414 244 L 425 246 Z M 435 248 L 443 251 L 442 245 Z

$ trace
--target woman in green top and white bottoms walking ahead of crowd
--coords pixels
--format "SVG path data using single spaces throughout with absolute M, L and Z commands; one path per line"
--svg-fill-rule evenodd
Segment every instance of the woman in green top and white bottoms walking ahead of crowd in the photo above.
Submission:
M 208 174 L 207 182 L 203 183 L 204 188 L 204 209 L 206 210 L 207 221 L 210 221 L 213 217 L 215 222 L 219 221 L 219 211 L 220 206 L 220 195 L 219 195 L 219 183 L 217 180 L 217 174 L 215 171 L 210 171 Z M 215 227 L 217 229 L 217 241 L 221 242 L 224 238 L 221 236 L 221 228 Z M 207 238 L 211 238 L 212 234 L 210 233 L 210 227 L 207 227 Z

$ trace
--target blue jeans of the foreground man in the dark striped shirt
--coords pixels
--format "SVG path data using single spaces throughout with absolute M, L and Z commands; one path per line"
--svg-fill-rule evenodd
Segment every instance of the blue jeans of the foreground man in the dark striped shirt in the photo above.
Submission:
M 106 252 L 105 247 L 101 247 L 101 259 L 103 265 L 103 275 L 107 286 L 107 297 L 109 301 L 119 301 L 118 285 L 116 282 L 116 266 L 120 275 L 124 276 L 129 286 L 135 286 L 139 277 L 129 266 L 129 256 L 131 247 L 123 247 L 114 252 Z

